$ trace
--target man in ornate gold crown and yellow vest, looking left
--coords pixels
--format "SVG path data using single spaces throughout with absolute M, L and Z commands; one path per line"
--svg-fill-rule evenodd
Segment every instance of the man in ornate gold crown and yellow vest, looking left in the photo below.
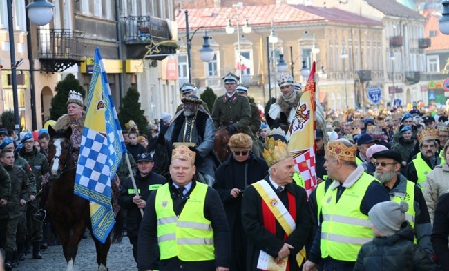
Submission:
M 363 243 L 374 237 L 368 212 L 390 201 L 383 185 L 356 163 L 356 145 L 347 139 L 330 141 L 325 147 L 328 178 L 334 180 L 325 194 L 317 194 L 320 225 L 303 270 L 353 270 Z

